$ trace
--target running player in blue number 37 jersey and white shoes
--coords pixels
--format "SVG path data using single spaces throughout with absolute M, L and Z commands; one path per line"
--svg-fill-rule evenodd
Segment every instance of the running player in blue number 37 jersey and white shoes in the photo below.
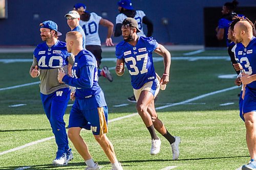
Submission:
M 177 160 L 180 137 L 169 134 L 158 118 L 154 104 L 154 98 L 159 92 L 160 85 L 166 85 L 169 82 L 170 53 L 152 37 L 138 36 L 137 33 L 140 30 L 138 22 L 134 18 L 125 18 L 121 29 L 124 40 L 116 46 L 116 74 L 123 75 L 125 63 L 131 75 L 137 111 L 151 134 L 151 155 L 160 152 L 161 140 L 155 132 L 156 129 L 169 141 L 173 159 Z M 159 80 L 155 72 L 152 52 L 164 58 L 164 74 Z

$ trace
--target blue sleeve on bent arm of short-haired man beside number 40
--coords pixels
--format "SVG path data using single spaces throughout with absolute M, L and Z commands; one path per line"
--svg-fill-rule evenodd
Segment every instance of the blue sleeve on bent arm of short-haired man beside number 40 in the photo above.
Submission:
M 66 75 L 63 77 L 62 81 L 73 87 L 92 88 L 94 79 L 94 68 L 95 66 L 93 65 L 83 66 L 81 67 L 80 77 L 78 79 Z

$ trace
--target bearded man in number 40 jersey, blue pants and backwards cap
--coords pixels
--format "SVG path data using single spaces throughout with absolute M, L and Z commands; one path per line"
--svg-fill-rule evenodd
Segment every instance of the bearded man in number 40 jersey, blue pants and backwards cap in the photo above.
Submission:
M 63 116 L 69 98 L 70 88 L 57 80 L 58 69 L 68 72 L 68 64 L 74 63 L 74 58 L 67 51 L 66 43 L 59 41 L 57 24 L 51 20 L 40 23 L 42 41 L 34 50 L 34 60 L 30 68 L 32 78 L 40 79 L 40 95 L 42 106 L 52 127 L 58 146 L 54 165 L 67 165 L 73 159 L 69 148 Z

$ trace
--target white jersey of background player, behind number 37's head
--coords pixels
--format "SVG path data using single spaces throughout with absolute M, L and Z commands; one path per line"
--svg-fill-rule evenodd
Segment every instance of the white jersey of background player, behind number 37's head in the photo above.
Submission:
M 143 11 L 140 11 L 140 10 L 136 10 L 136 15 L 134 16 L 134 19 L 137 20 L 138 22 L 138 29 L 140 29 L 140 33 L 137 33 L 139 36 L 143 36 L 143 37 L 146 37 L 144 32 L 143 32 L 143 23 L 142 23 L 142 18 L 146 16 L 145 13 Z M 121 14 L 118 14 L 116 16 L 116 24 L 117 23 L 122 23 L 123 20 L 127 18 L 126 15 L 124 15 L 123 13 Z

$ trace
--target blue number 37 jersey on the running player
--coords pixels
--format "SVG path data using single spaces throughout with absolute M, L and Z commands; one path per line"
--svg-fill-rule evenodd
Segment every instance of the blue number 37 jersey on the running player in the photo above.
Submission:
M 134 89 L 156 79 L 152 52 L 158 46 L 153 37 L 138 37 L 136 46 L 121 41 L 116 46 L 117 59 L 123 59 L 132 79 Z

